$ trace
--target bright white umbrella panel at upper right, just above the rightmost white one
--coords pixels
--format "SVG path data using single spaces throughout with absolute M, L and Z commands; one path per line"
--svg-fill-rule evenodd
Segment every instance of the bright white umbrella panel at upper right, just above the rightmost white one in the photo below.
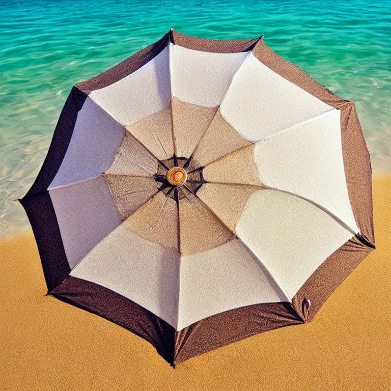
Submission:
M 249 141 L 266 138 L 330 109 L 253 54 L 241 65 L 220 106 L 222 117 Z

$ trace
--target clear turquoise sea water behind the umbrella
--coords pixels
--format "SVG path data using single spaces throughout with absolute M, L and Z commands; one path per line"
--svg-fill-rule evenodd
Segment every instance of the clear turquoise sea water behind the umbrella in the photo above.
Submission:
M 278 54 L 354 100 L 377 175 L 391 174 L 391 2 L 0 0 L 0 237 L 27 227 L 17 202 L 71 87 L 158 40 L 265 35 Z

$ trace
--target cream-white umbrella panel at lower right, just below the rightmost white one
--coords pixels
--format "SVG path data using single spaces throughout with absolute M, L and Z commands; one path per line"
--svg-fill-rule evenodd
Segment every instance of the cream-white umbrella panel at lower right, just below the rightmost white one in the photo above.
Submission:
M 328 256 L 353 236 L 308 201 L 269 189 L 258 190 L 250 197 L 236 233 L 289 299 Z

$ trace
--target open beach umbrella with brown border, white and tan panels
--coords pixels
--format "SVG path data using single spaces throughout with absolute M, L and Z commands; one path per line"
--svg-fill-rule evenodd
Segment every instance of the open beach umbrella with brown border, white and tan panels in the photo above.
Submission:
M 263 37 L 171 29 L 78 82 L 21 203 L 48 293 L 174 366 L 311 321 L 375 248 L 354 103 Z

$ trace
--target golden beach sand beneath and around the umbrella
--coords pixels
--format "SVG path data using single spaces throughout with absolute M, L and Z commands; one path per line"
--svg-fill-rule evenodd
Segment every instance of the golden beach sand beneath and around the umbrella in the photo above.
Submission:
M 268 331 L 172 369 L 146 341 L 45 296 L 32 235 L 0 243 L 0 389 L 391 389 L 391 178 L 374 179 L 377 249 L 305 325 Z

